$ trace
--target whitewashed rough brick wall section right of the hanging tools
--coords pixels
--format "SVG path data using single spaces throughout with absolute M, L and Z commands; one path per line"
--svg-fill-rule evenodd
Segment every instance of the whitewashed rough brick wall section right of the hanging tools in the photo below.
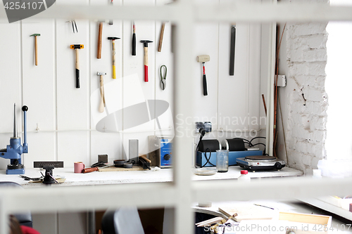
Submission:
M 281 34 L 284 24 L 280 26 Z M 287 155 L 281 115 L 277 120 L 277 153 L 289 167 L 305 174 L 312 174 L 318 161 L 326 157 L 326 26 L 327 22 L 288 23 L 280 49 L 279 74 L 287 76 L 287 86 L 279 88 Z

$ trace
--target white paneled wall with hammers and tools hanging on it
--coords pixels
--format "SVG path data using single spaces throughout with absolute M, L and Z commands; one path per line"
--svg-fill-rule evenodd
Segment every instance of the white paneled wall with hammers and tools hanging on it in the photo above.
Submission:
M 71 4 L 70 0 L 59 0 L 56 4 Z M 163 5 L 166 0 L 114 1 L 115 5 Z M 106 5 L 108 1 L 80 0 L 75 4 Z M 23 155 L 25 167 L 33 167 L 34 161 L 62 160 L 65 167 L 83 161 L 86 165 L 97 161 L 97 155 L 107 154 L 112 162 L 128 157 L 128 141 L 139 139 L 139 152 L 148 152 L 147 137 L 161 134 L 156 119 L 136 128 L 124 125 L 127 114 L 113 116 L 109 110 L 120 110 L 145 100 L 165 100 L 169 109 L 159 118 L 163 135 L 172 136 L 171 115 L 173 97 L 173 54 L 171 51 L 171 25 L 166 22 L 161 53 L 157 52 L 161 23 L 159 21 L 136 20 L 137 56 L 132 56 L 132 21 L 108 19 L 103 23 L 103 45 L 101 59 L 96 58 L 99 19 L 76 20 L 78 33 L 73 33 L 70 19 L 32 20 L 31 18 L 8 24 L 3 20 L 0 29 L 1 71 L 0 79 L 0 147 L 5 148 L 13 131 L 13 103 L 18 104 L 18 126 L 23 131 L 22 111 L 27 105 L 27 141 L 29 153 Z M 39 65 L 34 65 L 34 37 L 39 33 Z M 235 75 L 229 75 L 230 24 L 198 23 L 194 30 L 194 70 L 189 79 L 196 79 L 199 86 L 194 89 L 196 103 L 194 117 L 187 121 L 211 121 L 213 133 L 205 138 L 265 136 L 265 119 L 261 103 L 261 87 L 266 87 L 265 77 L 260 76 L 260 46 L 262 28 L 258 24 L 237 24 Z M 115 40 L 116 74 L 112 79 L 111 41 Z M 151 40 L 149 44 L 149 82 L 144 82 L 144 46 L 140 40 Z M 71 44 L 83 44 L 80 49 L 80 89 L 75 88 L 75 51 Z M 265 53 L 265 52 L 264 52 Z M 206 63 L 208 96 L 203 96 L 201 63 L 196 56 L 208 54 Z M 168 67 L 165 91 L 160 87 L 160 67 Z M 106 103 L 110 109 L 98 112 L 99 76 L 106 86 Z M 136 78 L 137 77 L 137 78 Z M 135 79 L 135 80 L 134 80 Z M 133 81 L 133 82 L 132 82 Z M 134 82 L 137 81 L 137 82 Z M 187 84 L 184 84 L 187 85 Z M 264 93 L 266 96 L 266 93 Z M 142 99 L 141 99 L 142 98 Z M 106 116 L 109 116 L 107 118 Z M 96 117 L 102 118 L 96 125 Z M 103 118 L 105 117 L 105 118 Z M 114 119 L 115 118 L 115 119 Z M 186 118 L 186 117 L 180 117 Z M 256 122 L 252 120 L 256 119 Z M 111 119 L 114 119 L 111 126 Z M 125 122 L 124 122 L 125 119 Z M 264 123 L 264 125 L 263 125 Z M 104 128 L 106 128 L 104 130 Z M 249 131 L 252 131 L 249 134 Z M 177 130 L 176 130 L 177 131 Z M 189 129 L 194 134 L 194 129 Z M 175 133 L 177 134 L 177 132 Z M 197 135 L 194 135 L 197 141 Z M 262 141 L 265 142 L 265 141 Z M 6 169 L 8 160 L 0 159 L 0 169 Z

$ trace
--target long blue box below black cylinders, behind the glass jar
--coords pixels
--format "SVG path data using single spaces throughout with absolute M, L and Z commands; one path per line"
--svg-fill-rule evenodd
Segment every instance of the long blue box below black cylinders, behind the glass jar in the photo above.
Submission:
M 246 157 L 252 155 L 263 155 L 263 150 L 249 150 L 249 151 L 230 151 L 229 152 L 229 166 L 237 165 L 236 159 L 239 157 Z M 199 152 L 197 151 L 196 155 L 196 165 L 201 167 L 207 162 L 206 157 L 209 158 L 209 162 L 216 166 L 216 152 Z M 213 167 L 209 162 L 206 163 L 204 167 Z

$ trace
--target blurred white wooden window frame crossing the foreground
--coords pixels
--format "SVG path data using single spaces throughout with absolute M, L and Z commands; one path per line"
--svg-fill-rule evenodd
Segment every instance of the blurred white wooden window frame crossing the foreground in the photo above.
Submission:
M 0 11 L 0 18 L 6 18 Z M 194 23 L 198 21 L 225 22 L 272 22 L 272 46 L 274 22 L 307 22 L 327 20 L 352 20 L 351 6 L 327 4 L 245 4 L 233 2 L 221 6 L 196 6 L 193 1 L 179 0 L 168 6 L 63 6 L 57 5 L 34 15 L 33 18 L 111 18 L 119 20 L 171 20 L 177 25 L 175 44 L 175 110 L 192 116 L 192 90 L 196 85 L 187 76 L 191 74 L 191 39 Z M 272 48 L 272 51 L 273 51 Z M 270 60 L 273 63 L 273 54 Z M 274 79 L 272 69 L 268 79 Z M 184 85 L 187 84 L 187 85 Z M 181 92 L 182 90 L 182 92 Z M 272 88 L 268 87 L 269 93 Z M 272 106 L 268 129 L 272 129 Z M 175 118 L 174 118 L 175 119 Z M 176 123 L 177 124 L 177 123 Z M 193 128 L 184 123 L 184 128 Z M 186 134 L 185 134 L 186 136 Z M 270 135 L 269 135 L 270 136 Z M 271 136 L 272 139 L 272 136 Z M 272 142 L 272 140 L 270 141 Z M 175 208 L 175 233 L 193 233 L 194 216 L 192 202 L 249 199 L 294 199 L 351 193 L 352 178 L 314 180 L 313 178 L 280 178 L 239 184 L 227 181 L 191 181 L 191 158 L 193 138 L 175 138 L 174 181 L 172 183 L 126 184 L 113 186 L 46 187 L 26 190 L 11 188 L 0 191 L 0 233 L 8 233 L 7 215 L 30 209 L 32 212 L 85 211 L 107 209 L 121 205 L 138 207 Z M 148 202 L 142 197 L 148 194 Z M 103 199 L 97 197 L 103 196 Z

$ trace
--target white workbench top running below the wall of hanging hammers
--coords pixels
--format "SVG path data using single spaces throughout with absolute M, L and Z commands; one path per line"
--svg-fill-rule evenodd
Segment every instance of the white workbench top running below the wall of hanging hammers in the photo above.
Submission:
M 207 167 L 209 168 L 209 167 Z M 102 185 L 115 183 L 151 183 L 151 182 L 170 182 L 172 181 L 172 169 L 158 169 L 144 171 L 94 171 L 87 174 L 77 174 L 73 172 L 73 168 L 56 168 L 53 171 L 54 176 L 60 175 L 65 177 L 65 182 L 53 184 L 53 186 L 87 186 L 87 185 Z M 25 176 L 39 177 L 41 169 L 25 169 Z M 229 171 L 225 173 L 216 173 L 213 176 L 197 176 L 191 174 L 193 181 L 220 180 L 220 179 L 237 179 L 240 176 L 241 167 L 229 167 Z M 42 173 L 45 171 L 42 170 Z M 302 171 L 284 167 L 279 171 L 249 171 L 251 178 L 266 178 L 266 177 L 286 177 L 286 176 L 301 176 Z M 6 175 L 5 170 L 0 170 L 0 181 L 13 181 L 19 183 L 24 188 L 32 188 L 42 186 L 39 183 L 28 183 L 19 175 Z

